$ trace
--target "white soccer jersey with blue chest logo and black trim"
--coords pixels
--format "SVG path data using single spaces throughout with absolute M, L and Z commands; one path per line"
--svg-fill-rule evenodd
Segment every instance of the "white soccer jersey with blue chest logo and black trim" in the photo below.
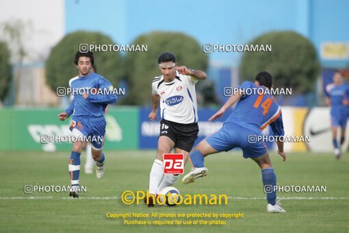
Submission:
M 154 77 L 152 89 L 159 95 L 161 118 L 176 123 L 189 124 L 198 122 L 194 77 L 176 72 L 172 82 L 164 82 L 164 77 Z

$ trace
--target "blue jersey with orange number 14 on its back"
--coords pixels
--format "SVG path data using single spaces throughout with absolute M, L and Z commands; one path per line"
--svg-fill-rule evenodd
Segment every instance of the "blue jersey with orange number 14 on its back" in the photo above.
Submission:
M 240 89 L 244 90 L 244 95 L 237 102 L 235 110 L 225 122 L 236 123 L 256 133 L 261 132 L 263 127 L 271 124 L 274 134 L 283 134 L 279 104 L 272 95 L 258 95 L 258 93 L 266 93 L 266 87 L 256 86 L 253 82 L 246 81 L 242 83 Z M 246 95 L 246 93 L 250 95 Z

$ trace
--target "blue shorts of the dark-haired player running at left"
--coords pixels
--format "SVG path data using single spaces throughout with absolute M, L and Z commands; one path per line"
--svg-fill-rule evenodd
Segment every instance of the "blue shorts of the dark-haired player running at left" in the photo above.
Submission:
M 102 149 L 104 145 L 105 126 L 104 116 L 73 116 L 69 130 L 79 130 L 91 143 L 93 149 Z

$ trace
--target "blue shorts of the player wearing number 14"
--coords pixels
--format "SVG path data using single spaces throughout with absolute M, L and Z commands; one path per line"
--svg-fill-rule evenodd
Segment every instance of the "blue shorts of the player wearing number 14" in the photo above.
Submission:
M 224 123 L 218 132 L 208 136 L 206 139 L 209 145 L 217 151 L 229 151 L 235 147 L 240 147 L 244 158 L 257 158 L 268 152 L 263 141 L 255 142 L 252 136 L 261 136 L 253 130 L 248 130 L 235 123 Z M 251 143 L 249 143 L 249 140 Z

